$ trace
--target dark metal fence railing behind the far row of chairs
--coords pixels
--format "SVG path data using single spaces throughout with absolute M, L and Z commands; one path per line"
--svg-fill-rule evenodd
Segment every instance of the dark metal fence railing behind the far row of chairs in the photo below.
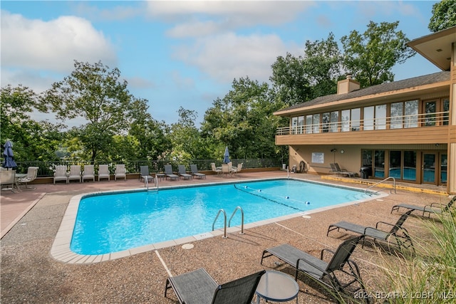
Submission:
M 231 159 L 233 166 L 237 166 L 239 163 L 242 164 L 242 168 L 252 169 L 252 168 L 271 168 L 271 167 L 281 167 L 281 159 Z M 149 166 L 149 171 L 152 173 L 155 172 L 164 172 L 165 164 L 171 164 L 173 171 L 177 171 L 177 166 L 179 164 L 184 164 L 187 170 L 190 170 L 190 164 L 196 164 L 199 171 L 211 170 L 211 163 L 214 162 L 218 167 L 222 164 L 222 160 L 219 159 L 194 159 L 194 160 L 127 160 L 123 162 L 108 162 L 108 161 L 81 161 L 81 160 L 61 160 L 56 162 L 18 162 L 16 161 L 17 168 L 16 172 L 26 173 L 28 167 L 38 167 L 38 177 L 52 177 L 54 169 L 58 164 L 66 164 L 68 167 L 71 164 L 81 165 L 83 170 L 84 165 L 94 164 L 95 174 L 98 174 L 98 165 L 99 164 L 108 164 L 111 174 L 114 174 L 115 164 L 125 164 L 125 169 L 127 173 L 134 174 L 140 172 L 140 166 Z

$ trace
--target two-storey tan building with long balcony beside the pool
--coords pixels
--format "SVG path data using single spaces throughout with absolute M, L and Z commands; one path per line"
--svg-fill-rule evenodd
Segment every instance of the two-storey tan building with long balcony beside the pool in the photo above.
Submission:
M 368 178 L 446 186 L 456 193 L 456 26 L 408 46 L 442 71 L 360 89 L 350 75 L 337 94 L 279 110 L 289 126 L 289 166 L 329 174 L 337 162 Z

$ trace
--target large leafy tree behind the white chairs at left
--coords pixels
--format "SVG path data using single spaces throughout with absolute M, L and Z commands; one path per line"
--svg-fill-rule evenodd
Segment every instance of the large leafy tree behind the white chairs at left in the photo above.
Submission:
M 100 151 L 110 149 L 114 135 L 127 130 L 133 98 L 117 68 L 78 61 L 74 67 L 71 75 L 53 83 L 42 103 L 50 105 L 57 119 L 83 122 L 75 134 L 95 161 Z

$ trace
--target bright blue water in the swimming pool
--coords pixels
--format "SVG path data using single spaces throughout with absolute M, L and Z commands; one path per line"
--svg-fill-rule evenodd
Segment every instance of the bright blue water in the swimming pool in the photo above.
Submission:
M 368 197 L 356 190 L 293 179 L 86 196 L 79 204 L 71 251 L 113 253 L 204 234 L 212 230 L 219 209 L 227 212 L 229 220 L 241 206 L 248 224 Z M 223 228 L 222 217 L 214 229 Z M 238 211 L 231 226 L 240 224 Z

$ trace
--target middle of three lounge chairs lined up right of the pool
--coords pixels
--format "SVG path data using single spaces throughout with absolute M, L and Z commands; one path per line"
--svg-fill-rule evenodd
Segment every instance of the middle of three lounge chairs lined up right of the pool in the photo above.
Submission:
M 390 239 L 394 238 L 399 248 L 413 248 L 412 239 L 410 239 L 410 235 L 408 234 L 407 229 L 403 228 L 405 220 L 412 211 L 413 210 L 409 210 L 405 214 L 400 216 L 400 218 L 395 224 L 389 224 L 385 223 L 384 221 L 378 221 L 377 224 L 375 224 L 375 228 L 370 226 L 361 226 L 358 224 L 349 223 L 348 221 L 339 221 L 336 224 L 329 225 L 328 232 L 326 232 L 326 236 L 328 236 L 330 231 L 336 229 L 337 231 L 339 231 L 339 229 L 344 229 L 346 231 L 351 231 L 356 234 L 362 234 L 363 236 L 371 237 L 374 241 L 378 239 L 380 241 L 385 241 L 386 243 L 389 243 Z M 380 224 L 391 226 L 390 231 L 380 230 L 378 228 Z M 415 248 L 413 248 L 413 250 L 415 251 Z

